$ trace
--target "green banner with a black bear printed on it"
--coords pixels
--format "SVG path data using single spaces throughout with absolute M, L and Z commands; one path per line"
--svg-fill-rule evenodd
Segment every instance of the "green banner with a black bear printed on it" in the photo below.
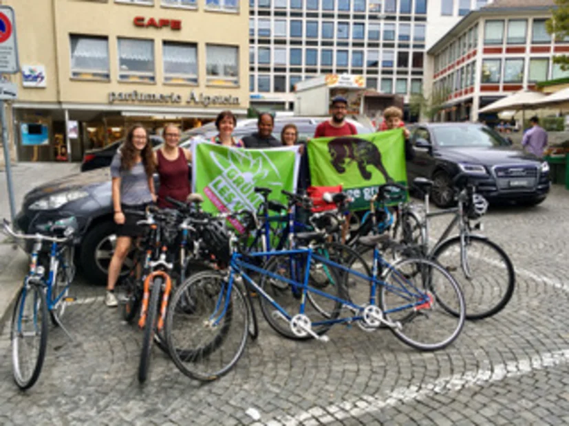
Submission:
M 311 139 L 308 163 L 312 186 L 341 185 L 354 199 L 353 210 L 369 208 L 377 187 L 388 180 L 407 185 L 405 139 L 400 128 Z

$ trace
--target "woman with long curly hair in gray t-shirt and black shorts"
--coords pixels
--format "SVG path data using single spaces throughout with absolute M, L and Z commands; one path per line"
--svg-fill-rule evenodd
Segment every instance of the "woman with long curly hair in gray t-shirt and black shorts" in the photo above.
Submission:
M 149 203 L 155 201 L 154 160 L 152 147 L 148 143 L 148 133 L 142 124 L 129 129 L 125 143 L 117 151 L 111 162 L 114 221 L 117 225 L 116 247 L 109 265 L 107 279 L 107 306 L 117 306 L 114 288 L 122 263 L 129 253 L 132 238 L 140 235 L 136 222 L 139 216 L 129 214 L 128 210 L 144 211 Z

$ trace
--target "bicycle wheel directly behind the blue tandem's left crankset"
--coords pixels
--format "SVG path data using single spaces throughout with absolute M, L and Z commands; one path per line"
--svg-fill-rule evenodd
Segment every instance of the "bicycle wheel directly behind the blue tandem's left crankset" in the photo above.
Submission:
M 292 256 L 272 256 L 265 265 L 265 269 L 278 276 L 282 276 L 288 280 L 303 282 L 305 276 L 305 256 L 297 256 L 294 262 L 291 261 Z M 294 269 L 291 273 L 291 265 Z M 336 268 L 323 265 L 321 262 L 312 260 L 310 265 L 310 273 L 308 285 L 314 289 L 319 289 L 328 295 L 336 298 L 345 299 L 346 293 L 343 290 L 341 275 Z M 274 300 L 290 318 L 299 313 L 301 304 L 302 287 L 296 287 L 288 282 L 270 277 L 266 273 L 261 274 L 259 287 L 263 289 Z M 332 324 L 328 324 L 328 320 L 334 320 L 339 317 L 342 309 L 342 303 L 324 295 L 319 295 L 308 291 L 308 303 L 305 304 L 304 314 L 310 319 L 311 328 L 314 333 L 322 335 L 326 333 Z M 310 334 L 299 335 L 294 333 L 291 328 L 290 318 L 287 319 L 272 306 L 268 298 L 259 295 L 261 304 L 261 312 L 269 325 L 280 335 L 289 339 L 305 340 L 312 339 Z

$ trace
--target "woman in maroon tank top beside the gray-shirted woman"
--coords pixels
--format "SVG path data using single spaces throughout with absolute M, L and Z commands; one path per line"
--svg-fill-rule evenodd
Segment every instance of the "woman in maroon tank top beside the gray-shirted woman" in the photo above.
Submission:
M 164 127 L 164 145 L 156 150 L 154 161 L 160 176 L 158 189 L 158 207 L 171 208 L 173 205 L 166 201 L 171 197 L 178 201 L 186 201 L 190 194 L 189 166 L 192 159 L 191 151 L 180 148 L 180 128 L 175 124 Z

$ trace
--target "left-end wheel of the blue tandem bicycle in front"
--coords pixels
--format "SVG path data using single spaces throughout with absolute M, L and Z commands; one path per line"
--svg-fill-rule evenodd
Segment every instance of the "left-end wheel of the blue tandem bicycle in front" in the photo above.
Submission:
M 244 352 L 249 308 L 235 284 L 227 300 L 227 285 L 219 271 L 203 271 L 186 280 L 173 295 L 166 339 L 175 366 L 191 379 L 222 377 Z

